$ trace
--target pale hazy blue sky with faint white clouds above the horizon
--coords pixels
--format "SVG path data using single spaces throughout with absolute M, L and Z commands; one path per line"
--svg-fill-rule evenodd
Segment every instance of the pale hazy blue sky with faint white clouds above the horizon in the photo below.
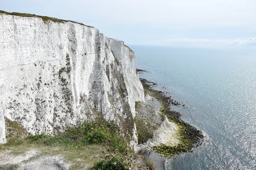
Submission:
M 0 9 L 75 20 L 126 44 L 256 47 L 255 0 L 0 0 Z

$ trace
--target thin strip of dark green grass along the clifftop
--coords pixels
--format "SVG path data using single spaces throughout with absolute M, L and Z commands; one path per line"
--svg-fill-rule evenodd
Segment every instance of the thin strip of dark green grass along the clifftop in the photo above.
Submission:
M 41 19 L 43 19 L 44 22 L 46 22 L 48 20 L 51 20 L 52 22 L 56 22 L 56 23 L 64 23 L 64 22 L 77 23 L 77 22 L 74 22 L 72 20 L 63 20 L 63 19 L 52 18 L 52 17 L 49 17 L 49 16 L 40 16 L 40 15 L 35 15 L 35 14 L 26 14 L 26 13 L 19 13 L 19 12 L 6 12 L 6 11 L 2 11 L 2 10 L 0 10 L 0 13 L 7 14 L 7 15 L 14 15 L 14 16 L 41 18 Z M 82 24 L 82 23 L 77 23 L 77 24 L 85 25 L 85 24 Z M 92 26 L 89 26 L 89 25 L 85 25 L 85 26 L 86 27 L 92 27 Z

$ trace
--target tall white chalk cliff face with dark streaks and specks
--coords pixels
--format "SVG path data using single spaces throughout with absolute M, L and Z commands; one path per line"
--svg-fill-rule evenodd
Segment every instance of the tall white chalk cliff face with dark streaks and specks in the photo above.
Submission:
M 4 118 L 31 134 L 55 133 L 98 116 L 137 137 L 144 101 L 134 52 L 96 28 L 0 14 L 0 143 Z

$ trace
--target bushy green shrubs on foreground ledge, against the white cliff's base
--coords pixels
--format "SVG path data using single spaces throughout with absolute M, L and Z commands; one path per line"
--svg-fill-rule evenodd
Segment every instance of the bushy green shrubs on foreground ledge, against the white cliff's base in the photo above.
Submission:
M 81 148 L 92 144 L 105 145 L 110 150 L 118 150 L 120 153 L 125 153 L 127 149 L 125 139 L 118 134 L 118 126 L 114 122 L 106 122 L 103 119 L 90 123 L 84 122 L 54 136 L 39 134 L 28 137 L 27 140 L 45 146 L 71 148 Z

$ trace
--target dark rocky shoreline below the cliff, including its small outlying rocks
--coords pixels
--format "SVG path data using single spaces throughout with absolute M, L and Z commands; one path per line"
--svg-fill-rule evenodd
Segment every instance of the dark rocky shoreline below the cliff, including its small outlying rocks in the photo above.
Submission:
M 146 73 L 146 70 L 137 69 L 137 73 Z M 187 122 L 183 121 L 181 119 L 181 113 L 172 111 L 171 107 L 173 105 L 179 106 L 179 101 L 176 101 L 172 99 L 171 96 L 168 96 L 165 92 L 156 90 L 157 83 L 150 82 L 147 79 L 140 78 L 145 95 L 150 95 L 152 97 L 155 97 L 155 99 L 158 100 L 160 103 L 160 110 L 159 112 L 164 114 L 168 121 L 174 123 L 179 127 L 177 135 L 179 135 L 179 144 L 176 146 L 168 146 L 168 145 L 158 145 L 153 146 L 148 151 L 144 151 L 144 155 L 150 159 L 150 153 L 154 151 L 155 154 L 159 154 L 160 158 L 171 159 L 173 156 L 177 154 L 181 154 L 182 152 L 192 152 L 193 148 L 196 148 L 200 146 L 204 141 L 204 135 L 203 132 L 199 129 L 197 129 L 195 126 L 189 125 Z M 184 107 L 184 105 L 182 105 Z M 143 152 L 143 151 L 142 151 Z M 155 156 L 153 156 L 155 157 Z M 159 162 L 162 162 L 162 164 L 165 164 L 166 161 L 163 161 L 163 159 L 160 159 Z M 166 167 L 166 165 L 159 165 L 155 168 L 164 169 L 163 167 Z M 157 168 L 157 169 L 158 169 Z

